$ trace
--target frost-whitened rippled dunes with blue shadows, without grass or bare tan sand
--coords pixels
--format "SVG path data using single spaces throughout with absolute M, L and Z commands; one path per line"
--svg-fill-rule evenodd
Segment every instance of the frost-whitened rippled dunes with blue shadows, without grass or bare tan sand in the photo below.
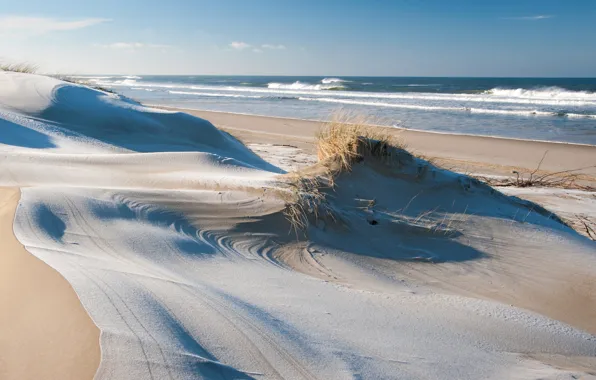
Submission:
M 569 279 L 593 283 L 594 243 L 468 177 L 365 162 L 338 178 L 341 223 L 297 240 L 284 170 L 205 120 L 0 73 L 0 129 L 15 235 L 99 328 L 96 379 L 558 379 L 595 364 L 594 292 L 573 287 L 572 318 L 553 309 Z

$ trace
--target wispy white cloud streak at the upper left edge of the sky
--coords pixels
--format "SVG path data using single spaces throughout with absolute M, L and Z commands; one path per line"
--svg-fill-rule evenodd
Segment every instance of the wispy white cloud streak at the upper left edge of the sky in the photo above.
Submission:
M 85 18 L 79 20 L 57 20 L 49 17 L 7 16 L 0 15 L 0 34 L 19 33 L 45 34 L 87 28 L 111 20 L 105 18 Z

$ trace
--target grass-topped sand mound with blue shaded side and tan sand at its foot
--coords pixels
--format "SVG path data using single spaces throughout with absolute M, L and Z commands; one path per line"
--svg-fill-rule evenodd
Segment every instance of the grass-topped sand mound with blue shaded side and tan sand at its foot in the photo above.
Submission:
M 568 276 L 594 278 L 592 242 L 535 203 L 367 139 L 353 125 L 346 134 L 342 128 L 323 132 L 317 165 L 288 177 L 295 203 L 286 215 L 303 245 L 282 250 L 280 260 L 340 282 L 368 267 L 375 276 L 430 281 L 596 331 L 588 288 L 574 287 L 569 303 L 592 306 L 570 313 L 556 306 Z

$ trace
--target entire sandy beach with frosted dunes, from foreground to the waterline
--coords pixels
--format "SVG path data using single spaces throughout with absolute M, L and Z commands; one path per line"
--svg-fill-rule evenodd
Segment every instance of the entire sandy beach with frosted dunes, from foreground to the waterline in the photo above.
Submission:
M 0 128 L 3 379 L 596 377 L 594 145 L 375 127 L 345 170 L 321 122 L 3 72 Z

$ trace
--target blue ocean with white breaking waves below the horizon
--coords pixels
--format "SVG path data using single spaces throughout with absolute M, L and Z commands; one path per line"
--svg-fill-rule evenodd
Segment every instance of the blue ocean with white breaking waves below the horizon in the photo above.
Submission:
M 146 104 L 596 145 L 596 78 L 78 77 Z

